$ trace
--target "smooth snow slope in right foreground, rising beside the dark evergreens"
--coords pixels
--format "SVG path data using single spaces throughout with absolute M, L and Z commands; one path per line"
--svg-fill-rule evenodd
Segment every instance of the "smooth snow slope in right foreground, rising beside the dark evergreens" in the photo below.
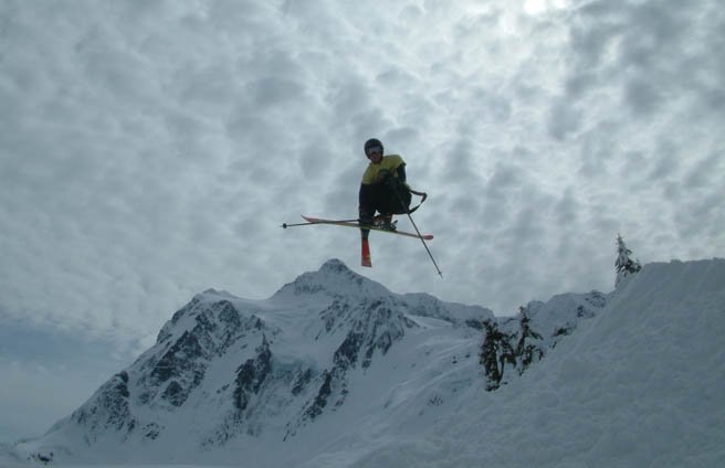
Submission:
M 724 336 L 725 260 L 649 264 L 521 380 L 349 466 L 723 467 Z

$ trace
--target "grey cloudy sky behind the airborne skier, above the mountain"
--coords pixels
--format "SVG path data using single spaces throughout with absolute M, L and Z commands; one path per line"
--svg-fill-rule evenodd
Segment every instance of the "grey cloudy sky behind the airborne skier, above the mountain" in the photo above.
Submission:
M 722 256 L 723 31 L 715 0 L 0 0 L 0 412 L 28 415 L 0 440 L 210 287 L 336 257 L 508 315 L 611 290 L 618 233 Z M 355 231 L 280 227 L 355 217 L 370 137 L 428 192 L 444 278 L 414 240 L 374 233 L 362 269 Z

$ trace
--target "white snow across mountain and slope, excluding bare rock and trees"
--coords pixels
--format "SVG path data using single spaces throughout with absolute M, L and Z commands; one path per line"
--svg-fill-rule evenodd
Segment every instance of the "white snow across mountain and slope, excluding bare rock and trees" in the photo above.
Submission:
M 229 417 L 224 385 L 253 355 L 254 345 L 231 347 L 213 358 L 202 384 L 179 407 L 158 401 L 130 406 L 138 421 L 164 428 L 156 439 L 125 429 L 96 427 L 92 434 L 66 418 L 43 437 L 0 447 L 0 466 L 21 466 L 30 454 L 50 451 L 61 466 L 725 466 L 725 259 L 648 264 L 609 295 L 530 302 L 532 326 L 553 348 L 494 392 L 484 391 L 482 334 L 465 326 L 474 317 L 490 318 L 490 311 L 393 295 L 338 260 L 264 301 L 211 290 L 197 299 L 200 308 L 223 299 L 259 317 L 264 328 L 251 332 L 250 342 L 259 345 L 255 332 L 264 333 L 275 375 L 280 369 L 333 368 L 332 355 L 355 323 L 351 315 L 372 310 L 335 304 L 382 301 L 389 321 L 375 322 L 376 333 L 385 328 L 403 334 L 387 352 L 375 349 L 367 368 L 350 366 L 347 393 L 333 392 L 344 394 L 343 402 L 330 403 L 314 421 L 295 425 L 318 386 L 293 397 L 284 379 L 270 377 L 251 396 L 253 411 L 240 419 L 242 430 L 201 449 L 199 440 Z M 333 319 L 322 323 L 323 317 Z M 179 336 L 191 326 L 185 320 L 190 316 L 170 321 L 161 334 Z M 504 327 L 511 321 L 498 320 Z M 553 340 L 561 327 L 569 333 Z M 144 360 L 161 344 L 126 370 L 130 400 Z M 94 435 L 96 443 L 84 442 Z

